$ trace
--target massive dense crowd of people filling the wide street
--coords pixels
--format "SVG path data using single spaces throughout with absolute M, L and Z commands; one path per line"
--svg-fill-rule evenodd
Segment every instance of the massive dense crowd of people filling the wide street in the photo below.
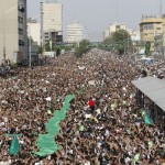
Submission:
M 143 114 L 131 80 L 142 69 L 164 78 L 164 65 L 162 58 L 144 66 L 131 55 L 92 50 L 82 58 L 66 53 L 50 65 L 0 78 L 0 165 L 163 165 L 164 130 L 135 122 Z M 61 109 L 69 94 L 76 98 L 55 138 L 63 148 L 46 157 L 33 154 L 52 118 L 50 107 Z M 8 134 L 21 134 L 16 156 L 9 153 Z

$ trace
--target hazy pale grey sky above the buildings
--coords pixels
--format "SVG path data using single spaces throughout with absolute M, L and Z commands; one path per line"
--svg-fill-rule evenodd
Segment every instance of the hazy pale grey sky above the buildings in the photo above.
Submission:
M 28 0 L 28 15 L 40 14 L 40 2 Z M 56 1 L 56 0 L 52 0 Z M 87 28 L 92 41 L 102 40 L 102 32 L 110 23 L 127 23 L 129 29 L 139 30 L 142 14 L 160 15 L 161 0 L 57 0 L 63 3 L 63 31 L 73 21 Z M 162 13 L 165 13 L 165 0 L 162 0 Z

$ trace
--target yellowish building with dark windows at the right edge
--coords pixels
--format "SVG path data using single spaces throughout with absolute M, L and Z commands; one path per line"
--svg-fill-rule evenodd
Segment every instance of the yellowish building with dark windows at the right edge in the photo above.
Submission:
M 151 52 L 155 51 L 155 38 L 158 35 L 163 34 L 163 19 L 156 16 L 142 16 L 142 21 L 140 23 L 140 33 L 142 41 L 151 42 Z

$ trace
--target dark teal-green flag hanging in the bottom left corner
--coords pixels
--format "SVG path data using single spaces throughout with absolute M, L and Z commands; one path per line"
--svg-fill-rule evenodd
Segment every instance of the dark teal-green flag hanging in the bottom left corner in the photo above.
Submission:
M 12 155 L 16 155 L 20 152 L 20 144 L 19 144 L 19 140 L 16 138 L 16 135 L 14 135 L 13 141 L 11 143 L 11 146 L 9 148 L 10 154 Z

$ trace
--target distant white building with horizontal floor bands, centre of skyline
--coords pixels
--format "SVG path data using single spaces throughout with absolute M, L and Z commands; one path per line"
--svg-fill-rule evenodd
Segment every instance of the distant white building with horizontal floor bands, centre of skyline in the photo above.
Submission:
M 68 43 L 78 43 L 87 38 L 87 31 L 82 24 L 72 23 L 67 25 L 67 38 Z

